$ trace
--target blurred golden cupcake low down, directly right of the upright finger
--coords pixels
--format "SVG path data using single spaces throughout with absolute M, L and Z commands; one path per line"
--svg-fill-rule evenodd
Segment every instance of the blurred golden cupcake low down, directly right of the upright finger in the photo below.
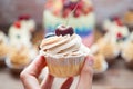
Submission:
M 108 62 L 102 53 L 95 53 L 94 56 L 94 79 L 103 77 L 104 72 L 108 69 Z

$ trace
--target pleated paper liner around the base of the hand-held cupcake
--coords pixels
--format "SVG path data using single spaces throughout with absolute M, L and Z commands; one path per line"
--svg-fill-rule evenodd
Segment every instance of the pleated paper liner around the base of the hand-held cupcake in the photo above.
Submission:
M 54 77 L 78 76 L 84 62 L 84 56 L 54 58 L 45 56 L 50 75 Z

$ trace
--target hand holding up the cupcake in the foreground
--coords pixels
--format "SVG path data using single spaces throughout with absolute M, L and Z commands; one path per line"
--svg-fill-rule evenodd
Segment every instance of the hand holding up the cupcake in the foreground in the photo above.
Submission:
M 81 70 L 80 79 L 76 86 L 76 89 L 91 89 L 92 87 L 92 65 L 93 58 L 86 57 L 84 66 Z M 41 73 L 41 70 L 47 66 L 45 58 L 43 56 L 38 57 L 29 67 L 27 67 L 20 75 L 24 89 L 51 89 L 54 77 L 48 75 L 45 81 L 42 81 L 41 85 L 38 81 L 38 78 Z M 68 78 L 65 82 L 61 86 L 61 89 L 70 89 L 73 82 L 73 78 Z

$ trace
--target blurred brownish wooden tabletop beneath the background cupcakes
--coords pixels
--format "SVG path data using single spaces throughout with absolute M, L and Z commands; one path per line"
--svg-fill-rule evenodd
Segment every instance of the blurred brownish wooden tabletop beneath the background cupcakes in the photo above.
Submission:
M 98 33 L 95 39 L 100 36 Z M 8 68 L 0 68 L 0 89 L 23 89 L 23 87 L 20 79 L 12 76 Z M 117 59 L 102 78 L 93 80 L 93 89 L 133 89 L 133 70 L 127 69 L 122 59 Z

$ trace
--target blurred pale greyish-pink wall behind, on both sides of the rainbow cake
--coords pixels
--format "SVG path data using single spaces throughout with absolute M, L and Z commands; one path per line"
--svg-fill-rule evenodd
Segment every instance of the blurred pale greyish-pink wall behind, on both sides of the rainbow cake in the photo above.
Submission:
M 0 24 L 12 23 L 18 16 L 29 13 L 37 23 L 42 24 L 42 16 L 45 0 L 0 0 Z M 111 16 L 123 17 L 132 7 L 132 0 L 92 0 L 96 16 L 96 22 L 101 22 Z

